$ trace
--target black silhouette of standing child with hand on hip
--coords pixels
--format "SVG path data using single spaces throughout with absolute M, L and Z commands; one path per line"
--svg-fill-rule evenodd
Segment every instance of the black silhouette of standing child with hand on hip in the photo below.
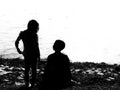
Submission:
M 29 71 L 32 69 L 32 87 L 36 81 L 36 64 L 37 60 L 40 60 L 40 52 L 38 45 L 37 32 L 39 30 L 39 24 L 36 20 L 30 20 L 28 23 L 28 28 L 25 31 L 21 31 L 17 40 L 15 41 L 15 46 L 19 54 L 23 54 L 25 59 L 25 83 L 26 87 L 29 87 Z M 24 45 L 24 50 L 19 49 L 19 41 L 22 40 Z

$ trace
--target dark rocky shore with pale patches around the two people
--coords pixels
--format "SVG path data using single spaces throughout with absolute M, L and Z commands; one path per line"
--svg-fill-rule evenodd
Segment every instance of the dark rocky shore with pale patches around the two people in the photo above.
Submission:
M 38 64 L 37 81 L 39 85 L 44 73 L 46 61 Z M 72 82 L 78 87 L 87 87 L 91 85 L 116 85 L 119 81 L 120 67 L 117 64 L 110 65 L 106 63 L 94 62 L 74 62 L 71 63 Z M 18 88 L 24 86 L 24 61 L 20 58 L 0 59 L 0 68 L 9 72 L 0 75 L 0 87 Z M 118 87 L 118 86 L 117 86 Z M 9 89 L 8 89 L 9 90 Z M 113 89 L 114 90 L 114 89 Z

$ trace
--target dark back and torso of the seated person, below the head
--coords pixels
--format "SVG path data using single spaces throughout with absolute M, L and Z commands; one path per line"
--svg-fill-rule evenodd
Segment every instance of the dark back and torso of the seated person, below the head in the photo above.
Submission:
M 48 56 L 44 80 L 50 87 L 62 89 L 70 86 L 70 61 L 67 55 L 53 53 Z

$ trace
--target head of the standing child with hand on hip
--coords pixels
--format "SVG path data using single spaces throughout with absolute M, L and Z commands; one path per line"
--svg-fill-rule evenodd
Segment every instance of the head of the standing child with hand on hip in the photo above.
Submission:
M 37 33 L 39 30 L 39 24 L 36 20 L 30 20 L 28 22 L 28 30 Z

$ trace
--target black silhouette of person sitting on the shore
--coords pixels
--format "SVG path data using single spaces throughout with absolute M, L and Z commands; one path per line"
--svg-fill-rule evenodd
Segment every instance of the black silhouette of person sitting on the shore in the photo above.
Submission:
M 67 55 L 61 53 L 64 48 L 65 43 L 62 40 L 55 41 L 55 53 L 47 58 L 40 90 L 61 90 L 71 85 L 70 61 Z

